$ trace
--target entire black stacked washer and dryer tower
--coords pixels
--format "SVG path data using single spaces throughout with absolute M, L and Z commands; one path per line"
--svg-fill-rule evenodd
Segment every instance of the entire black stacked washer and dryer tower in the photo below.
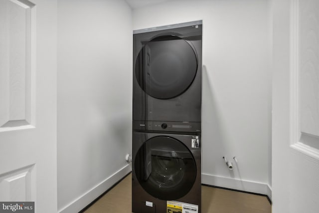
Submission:
M 132 212 L 200 213 L 202 22 L 133 39 Z

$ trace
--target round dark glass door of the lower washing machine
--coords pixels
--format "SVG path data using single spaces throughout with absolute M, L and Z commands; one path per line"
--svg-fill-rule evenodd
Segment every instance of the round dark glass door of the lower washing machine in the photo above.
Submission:
M 137 152 L 135 174 L 143 189 L 160 200 L 185 196 L 196 179 L 196 164 L 189 149 L 166 136 L 147 140 Z

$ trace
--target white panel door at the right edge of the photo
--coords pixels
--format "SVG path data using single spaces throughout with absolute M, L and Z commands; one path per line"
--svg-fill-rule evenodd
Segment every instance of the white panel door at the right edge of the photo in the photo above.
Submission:
M 318 213 L 319 1 L 272 2 L 273 213 Z

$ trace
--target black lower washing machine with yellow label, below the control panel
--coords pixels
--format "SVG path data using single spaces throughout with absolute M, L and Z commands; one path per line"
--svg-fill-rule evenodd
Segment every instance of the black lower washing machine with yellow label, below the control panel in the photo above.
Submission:
M 133 133 L 132 212 L 200 213 L 200 140 L 196 134 Z

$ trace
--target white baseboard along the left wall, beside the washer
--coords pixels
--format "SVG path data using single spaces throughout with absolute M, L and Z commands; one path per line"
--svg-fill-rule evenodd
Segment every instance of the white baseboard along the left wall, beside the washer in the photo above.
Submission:
M 132 168 L 130 165 L 123 167 L 67 206 L 58 210 L 58 213 L 77 213 L 81 211 L 131 171 Z

